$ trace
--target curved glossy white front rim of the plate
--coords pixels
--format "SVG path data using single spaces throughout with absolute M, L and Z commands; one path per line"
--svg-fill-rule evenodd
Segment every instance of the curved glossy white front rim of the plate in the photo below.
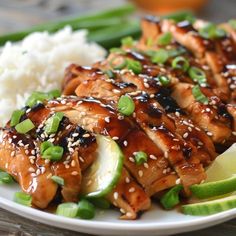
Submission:
M 103 222 L 103 221 L 97 221 L 97 220 L 83 220 L 83 219 L 78 219 L 78 218 L 72 219 L 72 218 L 66 218 L 63 216 L 57 216 L 52 213 L 40 211 L 38 209 L 34 209 L 34 208 L 17 204 L 13 202 L 12 200 L 8 200 L 1 196 L 0 196 L 0 207 L 20 216 L 22 216 L 22 213 L 23 213 L 24 214 L 23 217 L 34 220 L 34 221 L 39 221 L 47 225 L 52 225 L 53 223 L 53 225 L 56 227 L 70 229 L 72 231 L 83 232 L 83 233 L 88 232 L 87 229 L 90 230 L 90 233 L 93 230 L 99 229 L 99 230 L 103 230 L 105 234 L 108 233 L 106 232 L 108 230 L 112 230 L 114 233 L 116 232 L 121 233 L 121 231 L 122 232 L 133 231 L 133 233 L 135 233 L 135 231 L 136 232 L 137 231 L 152 232 L 154 230 L 156 234 L 158 233 L 158 231 L 162 231 L 162 234 L 163 233 L 170 234 L 169 232 L 173 230 L 174 230 L 173 233 L 188 232 L 188 231 L 193 231 L 196 229 L 202 229 L 209 226 L 213 226 L 213 225 L 222 223 L 224 221 L 227 221 L 236 217 L 236 208 L 235 208 L 235 209 L 230 209 L 230 210 L 220 212 L 220 213 L 210 215 L 210 216 L 203 216 L 201 218 L 198 217 L 195 219 L 192 218 L 186 222 L 171 222 L 171 223 L 170 222 L 167 222 L 167 223 L 140 222 L 139 224 L 127 224 L 127 221 L 126 221 L 126 223 L 124 224 L 122 223 L 122 221 L 120 223 L 119 222 Z M 52 215 L 53 217 L 51 217 Z M 36 216 L 37 219 L 32 219 L 30 218 L 31 216 Z M 189 227 L 191 227 L 191 229 Z

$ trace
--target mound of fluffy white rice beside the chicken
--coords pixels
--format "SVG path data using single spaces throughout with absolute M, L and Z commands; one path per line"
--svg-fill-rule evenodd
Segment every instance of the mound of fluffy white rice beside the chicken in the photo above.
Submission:
M 105 50 L 88 43 L 87 32 L 70 27 L 55 33 L 33 33 L 19 44 L 7 43 L 0 54 L 0 126 L 15 109 L 22 108 L 33 91 L 60 89 L 71 63 L 91 65 Z

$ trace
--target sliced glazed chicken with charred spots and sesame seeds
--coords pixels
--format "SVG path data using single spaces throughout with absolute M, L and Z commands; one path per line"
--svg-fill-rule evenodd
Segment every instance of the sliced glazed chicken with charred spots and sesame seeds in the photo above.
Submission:
M 97 158 L 96 135 L 104 135 L 124 154 L 121 177 L 106 196 L 122 219 L 136 219 L 150 208 L 151 198 L 178 184 L 181 195 L 190 196 L 189 187 L 203 182 L 205 168 L 236 141 L 235 30 L 223 24 L 226 35 L 207 39 L 199 33 L 206 24 L 147 17 L 139 41 L 113 50 L 93 67 L 70 65 L 63 96 L 25 108 L 21 121 L 30 119 L 33 130 L 19 134 L 10 122 L 1 130 L 0 169 L 38 208 L 58 196 L 76 202 L 83 173 Z M 158 44 L 167 33 L 169 42 Z M 162 62 L 155 58 L 160 50 L 168 53 Z M 174 66 L 177 57 L 182 61 Z M 134 103 L 131 115 L 119 110 L 122 96 Z M 64 116 L 48 135 L 45 123 L 57 112 Z M 64 148 L 60 161 L 42 158 L 45 141 Z M 147 154 L 142 165 L 135 163 L 139 151 Z M 53 182 L 53 175 L 65 185 Z

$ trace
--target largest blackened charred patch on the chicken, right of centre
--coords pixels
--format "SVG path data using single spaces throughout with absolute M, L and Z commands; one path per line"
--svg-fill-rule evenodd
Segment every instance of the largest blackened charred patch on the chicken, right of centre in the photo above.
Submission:
M 185 112 L 178 106 L 177 102 L 170 96 L 171 91 L 168 88 L 160 88 L 155 94 L 155 99 L 161 104 L 167 113 L 179 112 L 185 114 Z

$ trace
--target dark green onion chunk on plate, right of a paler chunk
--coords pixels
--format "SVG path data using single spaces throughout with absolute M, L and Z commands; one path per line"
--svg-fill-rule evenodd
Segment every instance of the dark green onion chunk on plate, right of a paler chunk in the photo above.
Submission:
M 86 199 L 82 199 L 78 203 L 77 216 L 81 219 L 92 219 L 95 216 L 95 207 Z

